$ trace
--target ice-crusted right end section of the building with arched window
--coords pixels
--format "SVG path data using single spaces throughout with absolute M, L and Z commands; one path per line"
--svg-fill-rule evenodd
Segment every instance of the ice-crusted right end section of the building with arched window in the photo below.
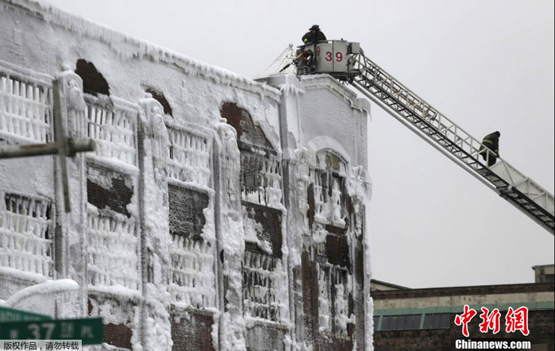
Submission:
M 287 239 L 297 256 L 289 269 L 302 285 L 302 299 L 294 299 L 293 314 L 304 320 L 298 333 L 313 350 L 364 350 L 371 316 L 363 293 L 369 281 L 363 252 L 369 247 L 364 206 L 371 189 L 370 106 L 326 75 L 261 81 L 282 91 L 284 191 L 293 199 L 286 203 Z

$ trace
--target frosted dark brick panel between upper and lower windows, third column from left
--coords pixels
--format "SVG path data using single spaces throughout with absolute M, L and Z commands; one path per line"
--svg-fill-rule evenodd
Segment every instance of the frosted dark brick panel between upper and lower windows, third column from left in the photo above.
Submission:
M 200 240 L 205 225 L 203 210 L 208 207 L 208 195 L 168 185 L 169 232 L 185 238 Z

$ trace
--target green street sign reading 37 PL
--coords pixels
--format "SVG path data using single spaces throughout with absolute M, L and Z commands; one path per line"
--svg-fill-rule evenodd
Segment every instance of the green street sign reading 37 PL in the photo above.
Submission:
M 102 343 L 102 318 L 53 319 L 0 323 L 0 340 L 81 340 Z

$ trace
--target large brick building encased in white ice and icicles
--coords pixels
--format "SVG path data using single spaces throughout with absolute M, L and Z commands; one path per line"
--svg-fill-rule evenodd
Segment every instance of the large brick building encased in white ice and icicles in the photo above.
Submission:
M 371 348 L 367 101 L 34 1 L 0 0 L 0 44 L 1 146 L 53 142 L 55 112 L 96 142 L 71 212 L 58 157 L 0 161 L 0 302 L 102 316 L 99 350 Z

